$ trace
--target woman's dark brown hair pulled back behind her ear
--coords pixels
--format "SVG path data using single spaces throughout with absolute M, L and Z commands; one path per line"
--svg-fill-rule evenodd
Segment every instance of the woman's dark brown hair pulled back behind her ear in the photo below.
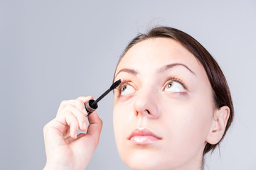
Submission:
M 181 30 L 170 27 L 156 27 L 149 30 L 149 32 L 146 34 L 137 35 L 136 38 L 129 42 L 124 52 L 122 53 L 122 56 L 119 58 L 119 62 L 122 60 L 122 57 L 124 57 L 124 55 L 131 47 L 149 38 L 174 39 L 180 42 L 181 45 L 183 45 L 183 47 L 185 47 L 187 50 L 189 50 L 196 57 L 196 59 L 203 65 L 204 69 L 206 70 L 208 79 L 210 81 L 210 85 L 213 89 L 213 101 L 215 102 L 215 108 L 220 108 L 222 106 L 228 106 L 230 108 L 230 116 L 228 118 L 225 132 L 223 134 L 224 137 L 225 133 L 227 132 L 228 128 L 233 122 L 234 108 L 228 83 L 218 63 L 214 60 L 214 58 L 210 55 L 206 48 L 204 48 L 203 45 L 201 45 L 197 40 L 192 38 L 191 35 L 188 35 L 187 33 L 184 33 Z M 223 140 L 223 137 L 221 140 Z M 210 150 L 213 151 L 215 147 L 218 146 L 220 141 L 215 145 L 207 143 L 206 147 L 203 150 L 203 155 L 209 152 Z

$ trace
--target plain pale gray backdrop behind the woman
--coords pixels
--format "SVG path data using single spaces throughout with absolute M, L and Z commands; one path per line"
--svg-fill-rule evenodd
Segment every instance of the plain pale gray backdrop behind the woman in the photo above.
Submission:
M 235 121 L 206 169 L 256 169 L 253 0 L 0 0 L 0 169 L 43 169 L 43 125 L 60 102 L 100 96 L 127 42 L 156 25 L 196 38 L 230 84 Z M 104 125 L 87 169 L 128 169 L 114 143 L 112 104 L 113 94 L 100 102 Z

